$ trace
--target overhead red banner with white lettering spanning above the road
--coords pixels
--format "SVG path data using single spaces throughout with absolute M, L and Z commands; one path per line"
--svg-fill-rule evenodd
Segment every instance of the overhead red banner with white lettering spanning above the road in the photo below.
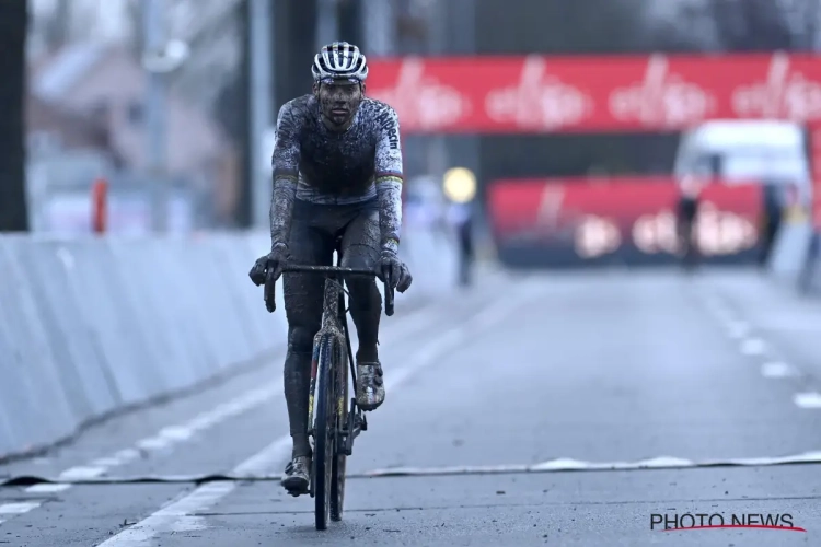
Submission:
M 373 59 L 367 94 L 408 133 L 635 132 L 821 121 L 821 56 Z

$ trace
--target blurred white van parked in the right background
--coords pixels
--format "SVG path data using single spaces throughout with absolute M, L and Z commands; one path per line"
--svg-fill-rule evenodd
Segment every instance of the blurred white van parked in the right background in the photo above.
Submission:
M 673 173 L 717 177 L 727 184 L 796 185 L 798 202 L 812 196 L 803 128 L 790 121 L 714 120 L 682 135 Z

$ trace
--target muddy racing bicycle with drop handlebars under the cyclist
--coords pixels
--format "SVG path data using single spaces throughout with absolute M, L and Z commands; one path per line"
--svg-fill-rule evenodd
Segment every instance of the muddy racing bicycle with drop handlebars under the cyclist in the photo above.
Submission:
M 336 241 L 336 266 L 287 265 L 282 272 L 323 274 L 325 276 L 322 326 L 314 336 L 311 359 L 311 384 L 308 403 L 308 434 L 313 440 L 313 458 L 309 493 L 314 499 L 316 529 L 326 529 L 328 516 L 332 521 L 342 520 L 345 501 L 345 464 L 354 453 L 354 439 L 368 430 L 365 412 L 348 398 L 348 369 L 356 393 L 356 361 L 350 347 L 348 331 L 348 309 L 345 306 L 344 276 L 372 276 L 377 272 L 366 269 L 343 268 L 340 240 Z M 385 315 L 393 315 L 394 292 L 389 272 L 383 272 Z M 276 310 L 275 284 L 270 274 L 265 281 L 265 301 L 269 311 Z M 348 361 L 349 368 L 345 366 Z M 319 397 L 315 395 L 319 394 Z M 335 403 L 335 404 L 334 404 Z M 315 420 L 315 421 L 314 421 Z

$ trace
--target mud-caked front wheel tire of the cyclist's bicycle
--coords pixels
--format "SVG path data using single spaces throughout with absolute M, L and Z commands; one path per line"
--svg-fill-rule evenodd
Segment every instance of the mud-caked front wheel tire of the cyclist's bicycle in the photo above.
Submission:
M 324 336 L 320 341 L 316 363 L 316 396 L 314 398 L 314 513 L 316 529 L 326 529 L 331 511 L 331 474 L 336 452 L 336 420 L 334 417 L 334 339 Z

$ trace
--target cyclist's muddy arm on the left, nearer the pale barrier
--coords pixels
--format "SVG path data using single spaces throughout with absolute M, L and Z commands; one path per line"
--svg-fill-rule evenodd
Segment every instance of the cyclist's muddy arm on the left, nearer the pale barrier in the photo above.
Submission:
M 287 245 L 291 231 L 293 200 L 299 178 L 299 116 L 286 103 L 277 116 L 276 142 L 271 154 L 274 191 L 270 198 L 270 248 Z

